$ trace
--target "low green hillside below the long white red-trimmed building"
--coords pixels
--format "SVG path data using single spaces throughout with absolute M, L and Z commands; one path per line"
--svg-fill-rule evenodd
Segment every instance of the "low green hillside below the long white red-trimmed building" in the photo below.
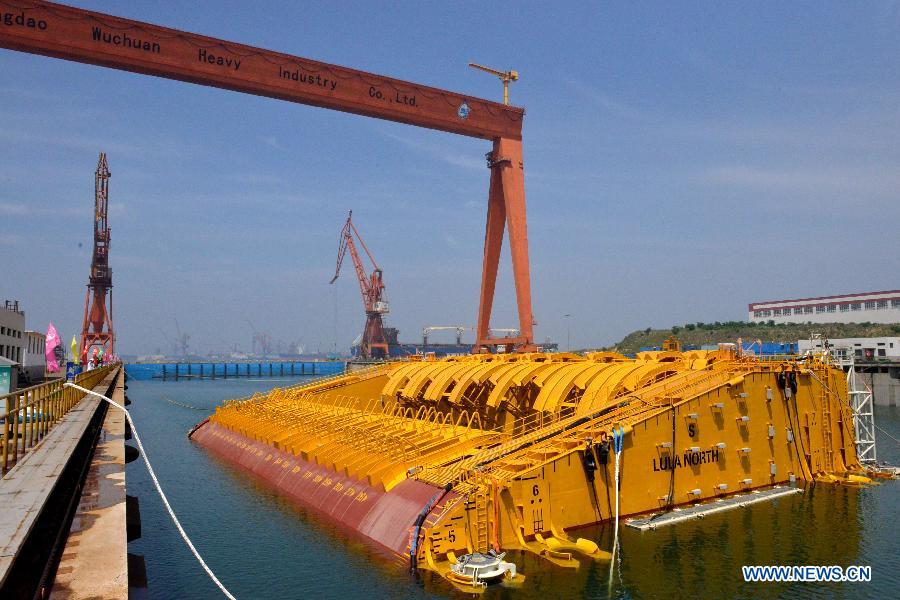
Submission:
M 671 329 L 642 329 L 625 336 L 618 344 L 609 348 L 618 352 L 633 353 L 644 346 L 662 346 L 663 340 L 674 335 L 684 345 L 716 344 L 735 342 L 738 338 L 745 342 L 796 342 L 809 339 L 813 333 L 821 333 L 829 338 L 885 337 L 900 335 L 900 324 L 880 323 L 796 323 L 776 325 L 774 323 L 746 323 L 727 321 L 725 323 L 688 323 Z

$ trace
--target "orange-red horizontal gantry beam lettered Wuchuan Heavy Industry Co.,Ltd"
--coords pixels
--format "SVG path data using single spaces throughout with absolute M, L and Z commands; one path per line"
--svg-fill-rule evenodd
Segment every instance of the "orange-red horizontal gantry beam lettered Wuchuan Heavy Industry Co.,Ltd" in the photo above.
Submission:
M 0 46 L 12 50 L 472 137 L 522 137 L 525 111 L 489 100 L 52 2 L 0 7 L 13 23 L 0 26 Z

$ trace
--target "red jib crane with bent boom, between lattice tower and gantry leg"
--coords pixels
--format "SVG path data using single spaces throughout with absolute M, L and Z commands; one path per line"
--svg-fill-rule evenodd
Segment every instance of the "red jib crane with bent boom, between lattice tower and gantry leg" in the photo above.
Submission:
M 359 245 L 366 252 L 366 256 L 372 262 L 372 275 L 366 274 L 366 269 L 359 257 L 356 249 L 356 243 L 353 241 L 354 236 L 359 240 Z M 375 257 L 369 252 L 366 243 L 363 241 L 359 231 L 353 224 L 353 211 L 347 216 L 347 222 L 341 230 L 341 239 L 338 242 L 338 258 L 337 266 L 334 269 L 334 277 L 330 283 L 337 281 L 341 274 L 341 265 L 344 263 L 344 256 L 347 249 L 350 249 L 350 258 L 353 259 L 353 266 L 356 269 L 356 277 L 359 279 L 359 289 L 362 292 L 363 306 L 366 309 L 366 327 L 363 329 L 362 338 L 359 343 L 359 353 L 362 358 L 387 358 L 388 345 L 387 338 L 384 335 L 384 322 L 382 316 L 388 313 L 388 303 L 384 299 L 384 282 L 381 280 L 381 268 L 375 262 Z

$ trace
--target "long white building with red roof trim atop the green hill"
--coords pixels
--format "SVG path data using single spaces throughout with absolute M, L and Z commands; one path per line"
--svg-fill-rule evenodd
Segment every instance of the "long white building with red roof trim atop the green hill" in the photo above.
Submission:
M 900 323 L 900 290 L 752 302 L 750 322 Z

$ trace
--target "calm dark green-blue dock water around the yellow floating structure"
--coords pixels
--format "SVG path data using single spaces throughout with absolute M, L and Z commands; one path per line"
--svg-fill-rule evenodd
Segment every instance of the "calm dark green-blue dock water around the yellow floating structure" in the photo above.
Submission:
M 222 400 L 293 380 L 130 381 L 138 433 L 182 524 L 223 583 L 247 598 L 464 597 L 439 578 L 413 578 L 377 553 L 319 522 L 265 484 L 193 445 L 186 432 Z M 192 410 L 191 405 L 205 410 Z M 879 425 L 900 438 L 900 410 L 880 408 Z M 900 464 L 900 448 L 879 440 L 879 457 Z M 151 598 L 219 598 L 185 547 L 143 462 L 128 466 L 140 498 Z M 900 482 L 865 489 L 812 486 L 803 494 L 639 533 L 620 530 L 622 560 L 609 591 L 608 564 L 568 570 L 511 553 L 526 575 L 518 590 L 489 599 L 533 598 L 896 598 L 900 596 Z M 580 532 L 609 548 L 609 526 Z M 871 583 L 744 583 L 741 565 L 871 565 Z

